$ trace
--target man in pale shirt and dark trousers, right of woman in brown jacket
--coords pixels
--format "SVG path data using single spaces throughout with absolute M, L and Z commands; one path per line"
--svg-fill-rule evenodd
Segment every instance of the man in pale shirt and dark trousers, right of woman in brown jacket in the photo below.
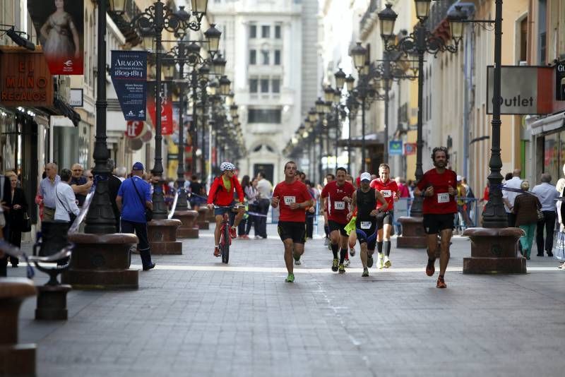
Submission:
M 544 245 L 547 256 L 553 256 L 553 232 L 555 230 L 555 217 L 557 216 L 556 200 L 559 198 L 559 191 L 550 182 L 552 176 L 548 173 L 542 174 L 542 183 L 532 188 L 532 193 L 537 195 L 542 203 L 543 220 L 537 222 L 535 241 L 537 244 L 537 256 L 543 256 Z M 545 227 L 545 243 L 543 239 L 543 228 Z

